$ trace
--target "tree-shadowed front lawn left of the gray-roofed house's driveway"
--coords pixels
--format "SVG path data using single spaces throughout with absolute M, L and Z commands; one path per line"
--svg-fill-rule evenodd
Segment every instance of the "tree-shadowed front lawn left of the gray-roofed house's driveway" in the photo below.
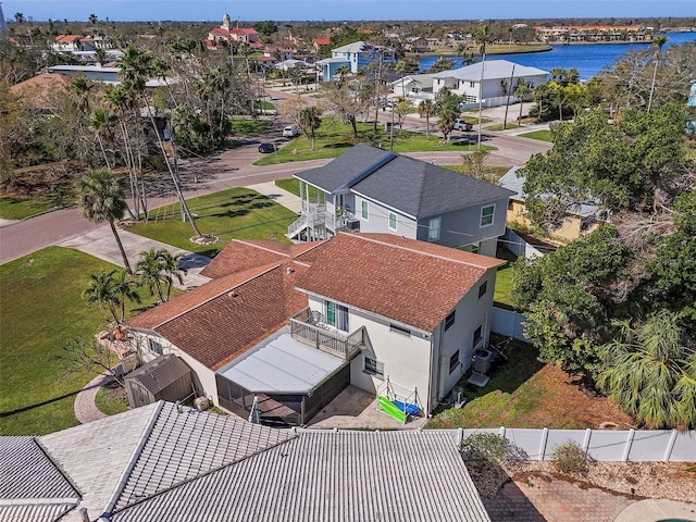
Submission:
M 232 188 L 189 199 L 187 203 L 201 234 L 213 234 L 220 241 L 191 243 L 194 231 L 189 223 L 182 222 L 178 203 L 153 211 L 148 223 L 133 224 L 128 232 L 213 258 L 232 239 L 288 241 L 287 227 L 297 219 L 295 212 L 248 188 Z

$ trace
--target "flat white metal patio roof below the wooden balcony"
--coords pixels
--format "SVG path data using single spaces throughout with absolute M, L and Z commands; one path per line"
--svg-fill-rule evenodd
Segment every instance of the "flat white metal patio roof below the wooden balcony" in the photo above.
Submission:
M 252 349 L 221 374 L 252 393 L 308 393 L 346 361 L 295 340 L 283 328 L 279 336 Z

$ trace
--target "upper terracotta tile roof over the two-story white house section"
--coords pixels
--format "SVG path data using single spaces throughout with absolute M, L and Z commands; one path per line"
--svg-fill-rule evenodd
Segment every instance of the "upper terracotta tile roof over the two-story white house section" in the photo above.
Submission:
M 338 234 L 299 289 L 433 332 L 504 261 L 390 234 Z

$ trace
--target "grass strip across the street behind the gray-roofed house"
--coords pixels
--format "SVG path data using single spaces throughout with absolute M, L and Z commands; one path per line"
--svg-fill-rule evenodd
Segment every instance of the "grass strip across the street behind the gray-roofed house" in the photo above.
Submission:
M 312 141 L 304 135 L 295 138 L 287 145 L 281 147 L 277 152 L 266 154 L 254 162 L 254 165 L 273 165 L 276 163 L 287 163 L 293 161 L 320 160 L 337 158 L 345 151 L 359 142 L 368 142 L 378 147 L 389 147 L 389 133 L 385 132 L 384 125 L 377 126 L 374 134 L 371 124 L 358 124 L 359 137 L 356 139 L 349 125 L 325 124 L 316 132 L 316 147 L 312 148 Z M 473 137 L 473 136 L 472 136 Z M 484 150 L 496 150 L 495 147 L 483 145 Z M 424 134 L 403 130 L 395 126 L 394 128 L 394 151 L 415 152 L 415 151 L 473 151 L 475 145 L 468 139 L 451 139 L 440 145 L 439 134 L 431 134 L 431 139 Z

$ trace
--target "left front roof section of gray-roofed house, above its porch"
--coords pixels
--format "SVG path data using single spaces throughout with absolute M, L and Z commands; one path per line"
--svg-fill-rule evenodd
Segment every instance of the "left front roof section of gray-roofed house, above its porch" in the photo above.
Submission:
M 394 152 L 359 144 L 331 163 L 295 174 L 294 177 L 309 183 L 327 192 L 349 186 L 369 175 L 384 162 L 396 158 Z

